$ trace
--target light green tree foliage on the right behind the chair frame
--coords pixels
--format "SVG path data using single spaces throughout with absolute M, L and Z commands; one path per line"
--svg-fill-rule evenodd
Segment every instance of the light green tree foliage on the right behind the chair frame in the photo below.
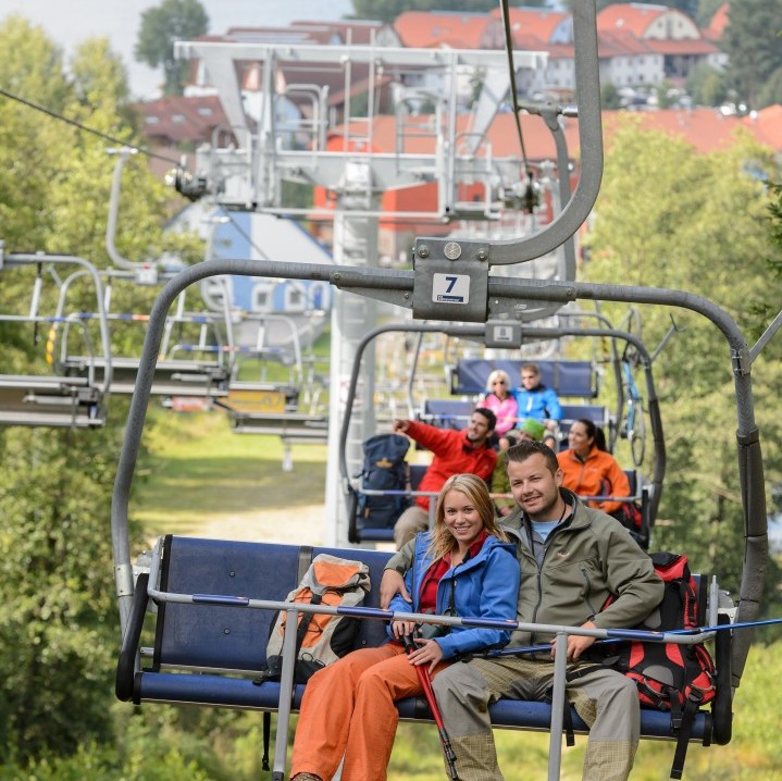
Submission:
M 772 160 L 748 136 L 728 151 L 696 154 L 628 117 L 606 157 L 588 278 L 704 296 L 732 315 L 752 344 L 779 307 L 768 266 L 768 191 L 748 173 L 757 170 L 772 171 Z M 615 322 L 624 313 L 618 305 L 605 310 Z M 655 363 L 668 467 L 654 547 L 687 551 L 698 571 L 718 572 L 735 592 L 744 545 L 730 351 L 703 317 L 660 307 L 642 309 L 647 345 L 662 338 L 670 314 L 685 331 Z M 768 486 L 782 473 L 782 422 L 773 402 L 781 358 L 778 339 L 753 374 Z

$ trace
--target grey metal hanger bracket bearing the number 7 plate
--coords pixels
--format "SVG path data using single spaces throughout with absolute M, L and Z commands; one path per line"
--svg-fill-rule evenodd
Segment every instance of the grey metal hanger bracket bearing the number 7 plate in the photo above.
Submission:
M 413 248 L 413 318 L 485 323 L 488 252 L 486 241 L 417 239 Z

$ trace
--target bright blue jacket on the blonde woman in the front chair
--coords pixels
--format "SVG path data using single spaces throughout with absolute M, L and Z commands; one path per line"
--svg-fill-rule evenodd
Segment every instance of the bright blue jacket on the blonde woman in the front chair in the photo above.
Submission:
M 389 609 L 397 612 L 419 612 L 421 583 L 432 563 L 426 555 L 431 542 L 429 532 L 415 537 L 415 558 L 405 573 L 405 585 L 412 596 L 412 605 L 397 594 Z M 499 618 L 516 621 L 516 607 L 519 598 L 520 570 L 516 558 L 516 546 L 501 543 L 489 535 L 481 550 L 471 559 L 450 568 L 437 585 L 436 612 L 448 611 L 451 588 L 454 606 L 458 616 L 480 618 Z M 435 637 L 443 649 L 443 658 L 451 659 L 457 655 L 483 650 L 492 646 L 502 646 L 510 639 L 511 629 L 481 629 L 450 627 L 450 632 Z M 393 636 L 390 627 L 388 634 Z

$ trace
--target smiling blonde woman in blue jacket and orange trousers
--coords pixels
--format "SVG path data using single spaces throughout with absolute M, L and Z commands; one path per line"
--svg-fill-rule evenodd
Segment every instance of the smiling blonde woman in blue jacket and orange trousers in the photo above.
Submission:
M 435 524 L 417 536 L 405 578 L 412 603 L 397 595 L 390 605 L 397 613 L 505 619 L 508 629 L 424 623 L 419 647 L 406 656 L 401 639 L 418 627 L 395 620 L 385 645 L 355 650 L 318 671 L 301 703 L 293 781 L 331 779 L 343 758 L 343 781 L 385 781 L 399 720 L 394 703 L 422 694 L 415 667 L 425 665 L 435 677 L 451 661 L 510 639 L 519 562 L 516 546 L 497 525 L 483 480 L 455 474 L 446 481 Z

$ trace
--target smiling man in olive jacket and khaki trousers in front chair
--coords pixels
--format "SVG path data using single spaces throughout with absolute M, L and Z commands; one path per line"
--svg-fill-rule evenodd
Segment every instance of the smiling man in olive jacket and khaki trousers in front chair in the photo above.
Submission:
M 649 557 L 613 518 L 584 506 L 561 487 L 554 451 L 522 441 L 507 450 L 510 489 L 519 505 L 502 519 L 517 542 L 521 586 L 517 616 L 527 623 L 619 629 L 638 623 L 662 599 L 662 581 Z M 398 570 L 412 554 L 402 548 L 386 566 L 381 604 L 400 591 Z M 601 610 L 609 595 L 616 598 Z M 568 661 L 578 668 L 594 637 L 568 636 Z M 554 642 L 513 633 L 508 647 Z M 433 681 L 462 781 L 501 781 L 488 705 L 500 697 L 543 699 L 554 681 L 551 654 L 471 659 Z M 567 685 L 568 699 L 589 724 L 586 781 L 625 781 L 638 746 L 641 714 L 635 683 L 609 668 L 589 666 Z

